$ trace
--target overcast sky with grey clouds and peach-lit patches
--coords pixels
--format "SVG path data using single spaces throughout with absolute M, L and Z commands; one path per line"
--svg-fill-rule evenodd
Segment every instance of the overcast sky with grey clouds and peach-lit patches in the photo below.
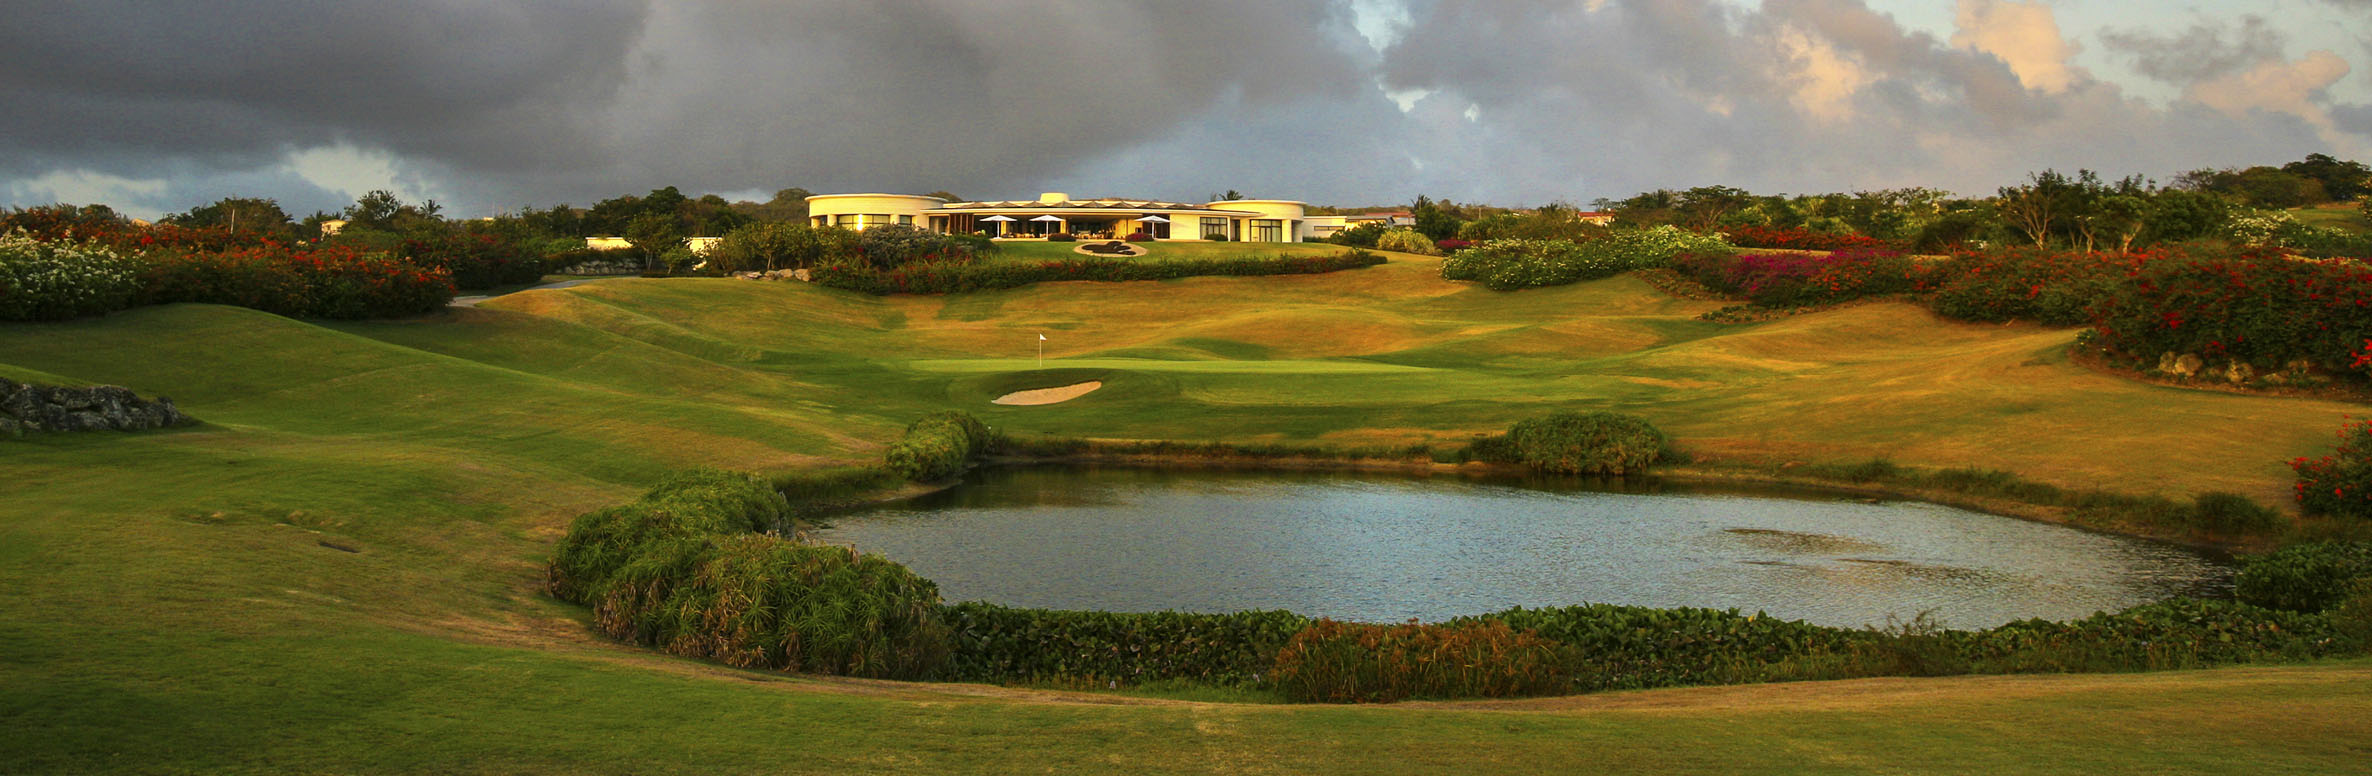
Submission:
M 0 204 L 676 185 L 1316 204 L 2372 161 L 2372 0 L 76 0 Z

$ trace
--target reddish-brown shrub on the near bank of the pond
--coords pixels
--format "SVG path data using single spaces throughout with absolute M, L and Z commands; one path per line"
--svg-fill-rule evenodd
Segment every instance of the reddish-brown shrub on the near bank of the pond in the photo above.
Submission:
M 1302 702 L 1547 695 L 1568 686 L 1556 641 L 1506 622 L 1312 622 L 1276 653 L 1276 688 Z

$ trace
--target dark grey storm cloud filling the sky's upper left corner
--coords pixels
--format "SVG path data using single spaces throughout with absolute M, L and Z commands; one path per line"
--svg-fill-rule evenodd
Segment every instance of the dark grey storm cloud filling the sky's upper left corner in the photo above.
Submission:
M 553 164 L 621 83 L 640 2 L 12 2 L 0 176 L 251 168 L 330 142 Z

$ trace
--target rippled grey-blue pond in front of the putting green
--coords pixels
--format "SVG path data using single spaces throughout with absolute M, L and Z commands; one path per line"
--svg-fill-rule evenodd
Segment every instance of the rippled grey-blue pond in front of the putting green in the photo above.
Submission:
M 1622 603 L 1955 629 L 2227 596 L 2194 551 L 1817 491 L 1331 472 L 994 467 L 830 515 L 946 600 L 1426 622 Z

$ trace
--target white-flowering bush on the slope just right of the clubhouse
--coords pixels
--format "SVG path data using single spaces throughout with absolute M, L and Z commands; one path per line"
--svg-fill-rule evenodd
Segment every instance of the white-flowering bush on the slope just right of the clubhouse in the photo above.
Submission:
M 1601 240 L 1485 240 L 1442 261 L 1445 280 L 1480 280 L 1511 292 L 1535 285 L 1566 285 L 1611 278 L 1627 271 L 1660 268 L 1679 254 L 1727 252 L 1720 235 L 1658 225 L 1613 230 Z

